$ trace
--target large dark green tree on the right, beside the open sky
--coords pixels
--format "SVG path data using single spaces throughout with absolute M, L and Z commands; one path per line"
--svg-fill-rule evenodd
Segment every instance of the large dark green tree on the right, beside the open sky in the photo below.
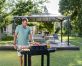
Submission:
M 71 24 L 75 32 L 82 35 L 82 0 L 60 0 L 60 13 L 71 15 Z

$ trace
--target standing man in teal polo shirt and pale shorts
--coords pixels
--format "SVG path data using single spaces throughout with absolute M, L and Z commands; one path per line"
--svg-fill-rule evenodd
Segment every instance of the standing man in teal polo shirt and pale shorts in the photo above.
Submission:
M 15 30 L 14 34 L 14 48 L 20 49 L 22 46 L 29 45 L 29 40 L 32 39 L 30 28 L 28 27 L 28 19 L 23 18 L 22 24 L 18 25 Z M 17 51 L 19 60 L 20 60 L 20 66 L 23 65 L 23 55 Z

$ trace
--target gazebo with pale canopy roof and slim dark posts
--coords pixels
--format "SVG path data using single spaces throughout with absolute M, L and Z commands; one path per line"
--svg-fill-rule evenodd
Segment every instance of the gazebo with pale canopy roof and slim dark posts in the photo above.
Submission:
M 30 22 L 59 22 L 61 24 L 61 42 L 63 41 L 62 36 L 62 23 L 64 20 L 68 20 L 68 45 L 69 45 L 69 22 L 70 16 L 58 16 L 54 14 L 39 14 L 30 16 L 14 16 L 14 25 L 17 19 L 28 18 Z M 15 29 L 15 26 L 13 27 Z

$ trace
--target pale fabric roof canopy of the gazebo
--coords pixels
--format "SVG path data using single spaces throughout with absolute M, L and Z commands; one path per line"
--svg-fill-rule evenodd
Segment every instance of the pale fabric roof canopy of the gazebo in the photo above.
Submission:
M 30 22 L 52 22 L 52 21 L 60 21 L 65 20 L 68 16 L 58 16 L 54 14 L 38 14 L 38 15 L 30 15 L 30 16 L 14 16 L 14 19 L 20 18 L 28 18 Z

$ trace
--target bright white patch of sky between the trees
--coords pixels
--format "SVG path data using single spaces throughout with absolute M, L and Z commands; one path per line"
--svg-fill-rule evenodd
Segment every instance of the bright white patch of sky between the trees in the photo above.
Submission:
M 59 13 L 59 0 L 49 0 L 49 3 L 45 3 L 48 12 L 51 14 L 60 15 Z

